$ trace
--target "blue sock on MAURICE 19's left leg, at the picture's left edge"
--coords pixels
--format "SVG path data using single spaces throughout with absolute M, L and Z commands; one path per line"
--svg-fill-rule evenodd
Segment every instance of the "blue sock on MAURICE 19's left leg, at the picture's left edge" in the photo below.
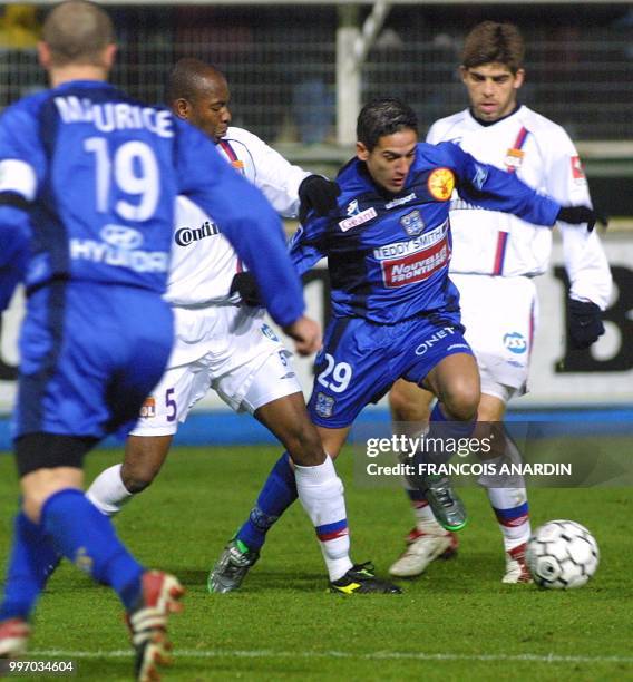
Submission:
M 0 621 L 29 618 L 50 574 L 50 566 L 56 565 L 58 559 L 42 527 L 30 520 L 23 512 L 16 516 L 13 534 L 13 551 L 7 569 Z

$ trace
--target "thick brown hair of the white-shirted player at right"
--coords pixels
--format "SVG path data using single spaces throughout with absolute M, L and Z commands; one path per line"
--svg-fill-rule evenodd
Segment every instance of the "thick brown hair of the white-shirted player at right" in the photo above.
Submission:
M 483 21 L 466 36 L 461 65 L 467 69 L 498 62 L 513 74 L 523 68 L 525 42 L 514 23 Z

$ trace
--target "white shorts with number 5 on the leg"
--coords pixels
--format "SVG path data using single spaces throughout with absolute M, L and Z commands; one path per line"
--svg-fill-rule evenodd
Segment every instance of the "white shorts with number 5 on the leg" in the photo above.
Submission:
M 236 412 L 301 391 L 292 357 L 252 308 L 174 309 L 176 339 L 166 372 L 145 401 L 133 436 L 171 436 L 210 389 Z

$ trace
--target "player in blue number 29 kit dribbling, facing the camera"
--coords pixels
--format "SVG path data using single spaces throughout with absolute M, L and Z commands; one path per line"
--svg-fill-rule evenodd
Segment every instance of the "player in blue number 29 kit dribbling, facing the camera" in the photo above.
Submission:
M 310 213 L 291 249 L 300 273 L 328 257 L 333 318 L 316 357 L 308 406 L 324 449 L 337 457 L 359 412 L 400 378 L 438 398 L 429 437 L 469 436 L 479 376 L 462 337 L 459 294 L 448 277 L 454 188 L 465 201 L 543 226 L 562 218 L 593 227 L 593 211 L 563 208 L 456 144 L 418 143 L 415 113 L 391 98 L 374 100 L 360 113 L 357 157 L 338 183 L 338 211 L 324 217 Z M 280 491 L 282 465 L 275 465 L 237 533 L 245 545 L 260 548 L 271 526 L 256 519 L 279 518 L 295 497 L 290 488 Z M 445 527 L 465 525 L 464 507 L 446 477 L 417 476 L 411 483 L 423 490 Z M 273 488 L 276 501 L 269 495 Z

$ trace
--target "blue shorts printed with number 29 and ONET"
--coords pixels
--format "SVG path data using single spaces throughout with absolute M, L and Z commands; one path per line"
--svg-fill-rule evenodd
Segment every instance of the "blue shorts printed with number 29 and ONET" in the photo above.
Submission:
M 361 318 L 334 318 L 316 355 L 316 377 L 308 410 L 312 421 L 338 429 L 350 426 L 397 379 L 421 383 L 444 358 L 473 354 L 459 312 L 417 316 L 398 324 Z

